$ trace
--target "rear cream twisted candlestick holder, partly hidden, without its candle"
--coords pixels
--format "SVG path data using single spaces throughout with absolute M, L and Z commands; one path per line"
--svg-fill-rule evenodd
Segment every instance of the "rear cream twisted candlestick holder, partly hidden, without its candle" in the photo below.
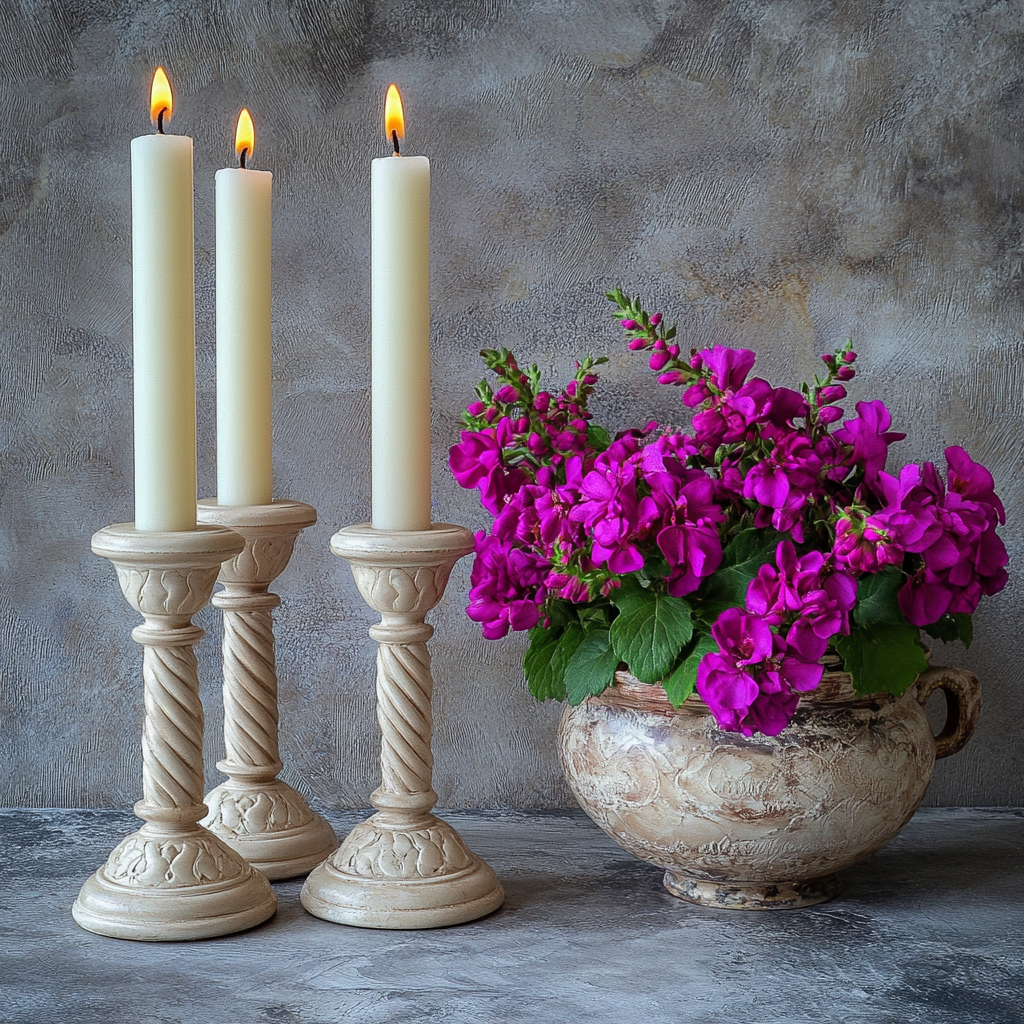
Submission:
M 206 796 L 202 824 L 268 879 L 291 879 L 315 867 L 338 840 L 302 794 L 278 778 L 278 673 L 268 592 L 289 559 L 295 539 L 316 521 L 301 502 L 218 505 L 200 502 L 200 522 L 226 526 L 245 548 L 220 567 L 224 589 L 213 595 L 224 612 L 224 745 L 217 767 L 228 776 Z

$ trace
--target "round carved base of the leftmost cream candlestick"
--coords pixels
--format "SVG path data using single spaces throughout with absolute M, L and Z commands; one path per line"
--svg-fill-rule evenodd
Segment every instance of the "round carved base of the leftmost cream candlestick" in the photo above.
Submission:
M 205 828 L 143 826 L 86 881 L 72 914 L 98 935 L 180 942 L 246 931 L 276 908 L 269 882 Z

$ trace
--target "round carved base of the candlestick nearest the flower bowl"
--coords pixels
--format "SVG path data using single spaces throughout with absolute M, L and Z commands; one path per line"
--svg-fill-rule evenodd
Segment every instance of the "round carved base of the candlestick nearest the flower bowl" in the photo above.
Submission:
M 444 928 L 497 910 L 505 893 L 490 867 L 447 822 L 416 825 L 375 815 L 356 825 L 302 887 L 314 916 L 356 928 Z

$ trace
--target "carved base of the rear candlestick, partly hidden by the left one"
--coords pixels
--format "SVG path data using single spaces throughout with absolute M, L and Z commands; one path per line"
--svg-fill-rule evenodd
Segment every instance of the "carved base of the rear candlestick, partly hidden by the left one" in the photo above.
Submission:
M 334 829 L 281 779 L 225 782 L 204 803 L 200 824 L 273 882 L 308 874 L 338 847 Z

